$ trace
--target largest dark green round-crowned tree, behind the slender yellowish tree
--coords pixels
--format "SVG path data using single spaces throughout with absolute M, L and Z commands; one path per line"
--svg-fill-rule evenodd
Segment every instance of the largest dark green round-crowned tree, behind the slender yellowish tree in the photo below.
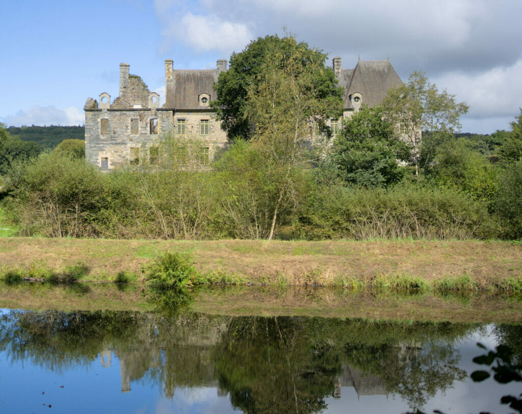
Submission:
M 325 102 L 327 111 L 321 115 L 323 119 L 338 116 L 341 109 L 342 89 L 336 87 L 334 71 L 325 67 L 326 55 L 317 49 L 311 49 L 304 42 L 297 42 L 292 35 L 279 38 L 277 35 L 266 36 L 252 41 L 240 53 L 230 57 L 230 68 L 219 75 L 215 84 L 217 99 L 212 101 L 221 128 L 227 131 L 229 139 L 250 139 L 255 132 L 252 113 L 247 114 L 250 107 L 249 90 L 256 90 L 260 82 L 266 79 L 260 75 L 266 72 L 267 62 L 274 69 L 292 70 L 292 76 L 299 79 L 306 74 L 313 96 Z M 292 68 L 287 67 L 291 62 Z M 337 107 L 339 104 L 339 107 Z

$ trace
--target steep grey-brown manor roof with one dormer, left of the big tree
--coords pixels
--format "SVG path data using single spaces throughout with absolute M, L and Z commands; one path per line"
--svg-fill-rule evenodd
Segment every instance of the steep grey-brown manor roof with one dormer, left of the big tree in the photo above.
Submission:
M 199 95 L 208 93 L 210 99 L 216 99 L 213 82 L 218 80 L 218 69 L 173 71 L 172 80 L 167 82 L 164 108 L 197 109 Z

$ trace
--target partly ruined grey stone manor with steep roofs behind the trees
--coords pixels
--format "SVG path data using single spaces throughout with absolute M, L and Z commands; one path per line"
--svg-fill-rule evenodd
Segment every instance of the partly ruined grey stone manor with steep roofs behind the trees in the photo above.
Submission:
M 345 89 L 343 117 L 358 112 L 362 105 L 379 104 L 388 89 L 402 85 L 393 66 L 386 61 L 359 61 L 354 69 L 342 69 L 334 57 L 333 69 L 339 86 Z M 101 170 L 125 164 L 155 163 L 162 135 L 198 137 L 203 143 L 199 160 L 208 163 L 219 149 L 229 144 L 226 132 L 210 108 L 216 98 L 213 82 L 227 70 L 227 61 L 218 60 L 216 69 L 174 69 L 165 61 L 165 103 L 151 92 L 139 76 L 129 74 L 129 65 L 120 65 L 120 94 L 100 93 L 99 101 L 85 103 L 85 158 Z M 340 121 L 329 120 L 332 132 Z

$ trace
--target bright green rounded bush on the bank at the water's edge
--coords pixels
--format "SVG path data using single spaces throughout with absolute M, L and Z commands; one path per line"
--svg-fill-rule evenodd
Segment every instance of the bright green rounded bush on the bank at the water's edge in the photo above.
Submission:
M 184 289 L 199 277 L 190 255 L 164 253 L 143 267 L 147 286 L 155 289 Z

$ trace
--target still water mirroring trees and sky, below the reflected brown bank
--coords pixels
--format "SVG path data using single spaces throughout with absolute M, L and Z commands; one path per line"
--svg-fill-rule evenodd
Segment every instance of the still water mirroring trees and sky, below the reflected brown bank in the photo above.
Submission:
M 0 315 L 0 412 L 509 412 L 473 383 L 510 324 L 194 312 Z

